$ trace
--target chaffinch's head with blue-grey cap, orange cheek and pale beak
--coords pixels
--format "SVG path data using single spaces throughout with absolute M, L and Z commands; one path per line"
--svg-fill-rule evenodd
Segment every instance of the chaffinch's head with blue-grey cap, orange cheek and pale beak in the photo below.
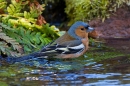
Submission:
M 68 34 L 73 38 L 80 40 L 93 30 L 94 29 L 91 28 L 87 23 L 77 21 L 70 27 Z

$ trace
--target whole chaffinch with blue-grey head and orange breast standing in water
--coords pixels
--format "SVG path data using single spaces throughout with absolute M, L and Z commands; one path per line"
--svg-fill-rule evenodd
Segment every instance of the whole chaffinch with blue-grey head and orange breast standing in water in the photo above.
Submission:
M 16 58 L 13 62 L 33 59 L 34 57 L 76 58 L 88 50 L 88 33 L 93 31 L 87 23 L 75 22 L 68 32 L 44 46 L 39 52 Z M 12 59 L 13 60 L 13 59 Z

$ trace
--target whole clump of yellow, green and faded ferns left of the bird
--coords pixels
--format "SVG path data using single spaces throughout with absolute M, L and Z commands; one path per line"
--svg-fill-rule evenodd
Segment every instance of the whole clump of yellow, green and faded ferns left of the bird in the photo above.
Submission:
M 11 0 L 8 14 L 0 15 L 0 54 L 18 56 L 34 52 L 60 36 L 55 26 L 36 24 L 42 7 L 31 0 Z

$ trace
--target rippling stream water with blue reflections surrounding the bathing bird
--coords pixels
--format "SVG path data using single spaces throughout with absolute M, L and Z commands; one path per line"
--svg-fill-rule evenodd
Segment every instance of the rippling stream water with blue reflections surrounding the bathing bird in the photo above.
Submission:
M 1 86 L 129 86 L 130 40 L 107 39 L 76 59 L 35 59 L 1 66 Z

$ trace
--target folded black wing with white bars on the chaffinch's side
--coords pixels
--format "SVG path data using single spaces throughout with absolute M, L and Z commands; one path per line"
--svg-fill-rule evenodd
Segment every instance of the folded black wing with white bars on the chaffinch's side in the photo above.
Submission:
M 58 55 L 58 54 L 74 54 L 78 52 L 82 52 L 84 49 L 84 45 L 81 40 L 73 40 L 67 41 L 62 44 L 54 44 L 43 48 L 39 53 L 44 55 Z

